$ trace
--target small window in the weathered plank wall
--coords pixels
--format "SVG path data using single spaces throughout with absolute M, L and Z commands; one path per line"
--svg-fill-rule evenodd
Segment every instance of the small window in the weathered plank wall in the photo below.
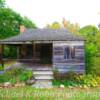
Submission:
M 64 48 L 64 59 L 74 59 L 75 58 L 75 47 L 67 46 Z

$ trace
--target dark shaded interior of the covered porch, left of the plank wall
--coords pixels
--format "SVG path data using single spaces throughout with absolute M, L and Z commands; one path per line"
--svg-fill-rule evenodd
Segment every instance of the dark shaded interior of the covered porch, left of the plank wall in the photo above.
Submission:
M 2 67 L 16 61 L 30 67 L 52 67 L 52 48 L 51 42 L 1 44 L 0 63 Z

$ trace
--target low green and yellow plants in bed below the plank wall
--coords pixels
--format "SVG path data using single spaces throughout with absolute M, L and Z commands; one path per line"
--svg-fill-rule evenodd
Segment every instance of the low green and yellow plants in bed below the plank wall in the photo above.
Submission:
M 77 73 L 68 72 L 59 74 L 58 71 L 54 71 L 54 86 L 83 86 L 83 87 L 96 87 L 100 85 L 100 76 L 93 74 L 79 75 Z

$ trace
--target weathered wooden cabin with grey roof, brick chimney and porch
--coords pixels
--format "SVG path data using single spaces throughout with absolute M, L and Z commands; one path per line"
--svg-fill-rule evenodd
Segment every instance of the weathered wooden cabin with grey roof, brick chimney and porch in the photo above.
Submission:
M 16 60 L 33 66 L 48 65 L 60 73 L 85 72 L 84 39 L 66 29 L 26 29 L 20 34 L 0 41 L 1 63 Z M 5 45 L 16 48 L 16 58 L 3 57 Z

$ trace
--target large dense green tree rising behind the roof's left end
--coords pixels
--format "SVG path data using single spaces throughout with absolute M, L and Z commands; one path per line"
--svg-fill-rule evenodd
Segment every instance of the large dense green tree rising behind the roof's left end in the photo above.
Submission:
M 0 9 L 0 38 L 4 39 L 17 35 L 20 25 L 36 28 L 36 25 L 28 18 L 23 18 L 10 8 Z

